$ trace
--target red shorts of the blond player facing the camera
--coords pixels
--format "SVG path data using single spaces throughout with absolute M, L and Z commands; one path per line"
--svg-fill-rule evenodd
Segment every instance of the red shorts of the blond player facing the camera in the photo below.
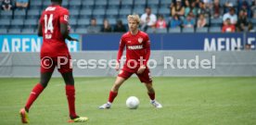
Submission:
M 121 70 L 118 74 L 119 77 L 122 77 L 123 79 L 127 80 L 128 78 L 130 78 L 134 73 L 133 72 L 128 72 L 126 70 Z M 139 78 L 139 80 L 141 82 L 145 82 L 145 83 L 151 83 L 152 79 L 151 79 L 151 75 L 150 75 L 150 70 L 149 69 L 145 69 L 144 72 L 142 74 L 137 74 L 137 77 Z

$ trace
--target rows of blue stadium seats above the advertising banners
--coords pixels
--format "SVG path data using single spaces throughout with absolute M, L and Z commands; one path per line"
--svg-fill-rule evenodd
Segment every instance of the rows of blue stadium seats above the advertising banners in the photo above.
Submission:
M 213 0 L 214 1 L 214 0 Z M 233 6 L 236 9 L 238 16 L 240 0 L 221 0 L 220 6 L 222 6 L 222 16 L 227 10 Z M 250 6 L 255 4 L 251 0 L 246 0 Z M 142 15 L 145 13 L 145 7 L 151 7 L 151 12 L 156 15 L 163 15 L 164 19 L 168 23 L 167 30 L 153 30 L 156 33 L 162 32 L 219 32 L 223 26 L 222 16 L 214 19 L 212 16 L 207 17 L 207 25 L 205 28 L 197 29 L 183 29 L 176 28 L 170 29 L 170 7 L 175 4 L 173 0 L 63 0 L 62 5 L 70 10 L 70 26 L 72 31 L 77 33 L 83 33 L 82 28 L 86 28 L 90 24 L 90 19 L 96 18 L 97 25 L 102 26 L 104 19 L 109 19 L 110 25 L 113 27 L 116 20 L 121 19 L 124 25 L 127 25 L 126 17 L 129 14 Z M 213 2 L 211 2 L 213 4 Z M 0 28 L 1 33 L 33 33 L 37 29 L 38 19 L 46 6 L 50 5 L 50 0 L 30 0 L 30 6 L 27 9 L 13 8 L 10 11 L 0 11 Z M 14 6 L 14 5 L 13 5 Z M 252 23 L 253 31 L 256 27 L 255 10 L 249 11 L 248 20 Z M 196 19 L 198 16 L 196 15 Z M 186 19 L 185 17 L 182 19 Z M 127 26 L 126 26 L 127 27 Z M 17 30 L 20 29 L 20 30 Z M 21 30 L 25 29 L 25 30 Z M 28 29 L 32 29 L 29 31 Z M 150 31 L 150 30 L 149 30 Z

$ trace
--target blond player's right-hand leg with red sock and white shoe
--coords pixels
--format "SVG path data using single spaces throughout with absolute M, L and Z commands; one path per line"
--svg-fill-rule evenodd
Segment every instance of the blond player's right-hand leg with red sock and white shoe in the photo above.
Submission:
M 141 82 L 143 82 L 147 88 L 147 94 L 150 98 L 150 103 L 157 107 L 161 108 L 162 106 L 158 101 L 155 99 L 155 90 L 153 88 L 153 81 L 151 80 L 150 71 L 149 69 L 145 69 L 145 71 L 142 74 L 136 74 Z

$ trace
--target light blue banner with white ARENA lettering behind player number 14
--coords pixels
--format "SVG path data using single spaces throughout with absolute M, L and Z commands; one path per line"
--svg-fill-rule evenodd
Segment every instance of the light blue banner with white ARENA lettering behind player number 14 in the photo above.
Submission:
M 79 34 L 70 36 L 80 40 Z M 0 35 L 0 52 L 40 52 L 43 37 L 37 35 Z M 80 43 L 66 40 L 70 52 L 80 51 Z

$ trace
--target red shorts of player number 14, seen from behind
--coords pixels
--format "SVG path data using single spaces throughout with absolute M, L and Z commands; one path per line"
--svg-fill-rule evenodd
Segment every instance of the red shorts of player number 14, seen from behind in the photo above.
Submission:
M 58 72 L 66 73 L 72 71 L 72 65 L 70 63 L 70 56 L 42 56 L 41 57 L 41 72 L 53 72 L 57 67 Z

